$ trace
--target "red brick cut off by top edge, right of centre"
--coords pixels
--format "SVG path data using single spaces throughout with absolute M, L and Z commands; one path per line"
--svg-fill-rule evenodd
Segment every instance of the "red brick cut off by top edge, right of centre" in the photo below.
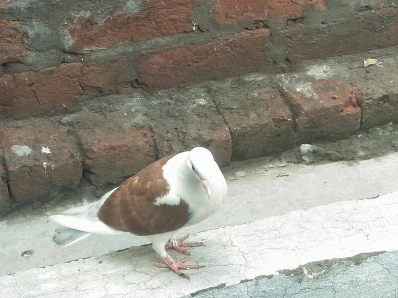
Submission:
M 221 24 L 232 24 L 250 19 L 295 19 L 303 16 L 303 8 L 313 4 L 323 8 L 324 0 L 213 0 L 216 20 Z

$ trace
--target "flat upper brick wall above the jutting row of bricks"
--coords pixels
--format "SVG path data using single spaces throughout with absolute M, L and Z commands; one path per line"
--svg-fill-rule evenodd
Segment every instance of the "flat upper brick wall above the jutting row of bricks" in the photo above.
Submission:
M 168 88 L 398 44 L 388 0 L 4 0 L 0 114 L 59 114 Z

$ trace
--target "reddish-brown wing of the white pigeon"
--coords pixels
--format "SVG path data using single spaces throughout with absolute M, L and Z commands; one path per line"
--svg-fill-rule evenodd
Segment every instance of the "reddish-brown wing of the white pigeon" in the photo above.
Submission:
M 105 224 L 135 235 L 153 235 L 176 230 L 189 220 L 188 204 L 154 205 L 168 194 L 163 165 L 174 155 L 165 156 L 125 180 L 106 199 L 98 218 Z

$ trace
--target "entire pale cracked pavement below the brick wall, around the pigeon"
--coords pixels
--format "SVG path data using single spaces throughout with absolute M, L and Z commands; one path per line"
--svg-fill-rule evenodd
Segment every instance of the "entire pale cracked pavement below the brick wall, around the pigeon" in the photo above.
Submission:
M 232 204 L 192 228 L 190 241 L 206 246 L 191 249 L 189 262 L 206 267 L 189 270 L 191 281 L 156 268 L 160 257 L 150 246 L 126 249 L 131 237 L 117 243 L 114 237 L 89 237 L 60 249 L 47 239 L 55 225 L 45 215 L 19 223 L 6 219 L 0 261 L 8 275 L 0 276 L 0 295 L 397 297 L 398 182 L 391 167 L 397 162 L 393 153 L 355 163 L 278 167 L 256 160 L 227 168 Z M 277 178 L 280 172 L 289 176 Z M 10 243 L 12 236 L 20 240 Z M 89 245 L 95 249 L 87 250 Z M 33 255 L 20 257 L 29 248 Z M 14 271 L 12 253 L 5 258 L 12 249 L 19 255 Z

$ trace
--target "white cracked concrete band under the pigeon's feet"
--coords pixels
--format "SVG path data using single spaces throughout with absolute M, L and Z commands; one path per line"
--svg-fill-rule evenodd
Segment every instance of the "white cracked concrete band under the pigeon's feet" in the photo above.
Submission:
M 191 270 L 191 281 L 154 267 L 153 264 L 159 261 L 159 257 L 150 247 L 133 247 L 98 258 L 86 258 L 0 277 L 1 296 L 184 297 L 204 293 L 205 289 L 223 284 L 226 287 L 240 283 L 255 284 L 255 279 L 259 280 L 263 276 L 290 276 L 294 271 L 286 269 L 296 269 L 300 264 L 346 258 L 365 252 L 397 250 L 398 243 L 393 236 L 398 233 L 397 207 L 398 192 L 395 192 L 372 200 L 335 203 L 249 224 L 200 232 L 191 239 L 205 240 L 207 246 L 193 249 L 192 259 L 207 267 Z M 388 272 L 391 264 L 396 264 L 389 256 L 384 256 L 388 261 L 387 269 L 383 272 Z M 393 254 L 394 258 L 395 256 Z M 380 270 L 383 268 L 383 258 L 369 259 L 371 261 L 379 262 L 379 265 L 369 266 L 376 266 Z M 394 268 L 398 273 L 397 266 Z M 302 267 L 301 271 L 304 272 Z M 341 274 L 346 274 L 343 271 Z M 294 275 L 290 277 L 290 283 L 294 282 Z M 392 271 L 390 275 L 395 277 Z M 261 284 L 266 285 L 273 279 L 264 281 Z M 367 286 L 374 289 L 372 285 L 379 283 L 380 278 L 368 278 Z M 283 282 L 275 283 L 274 287 L 277 285 L 282 293 L 292 288 Z M 396 282 L 385 283 L 384 293 L 395 295 L 396 286 Z M 224 286 L 220 288 L 222 287 Z M 381 296 L 380 293 L 378 295 Z

